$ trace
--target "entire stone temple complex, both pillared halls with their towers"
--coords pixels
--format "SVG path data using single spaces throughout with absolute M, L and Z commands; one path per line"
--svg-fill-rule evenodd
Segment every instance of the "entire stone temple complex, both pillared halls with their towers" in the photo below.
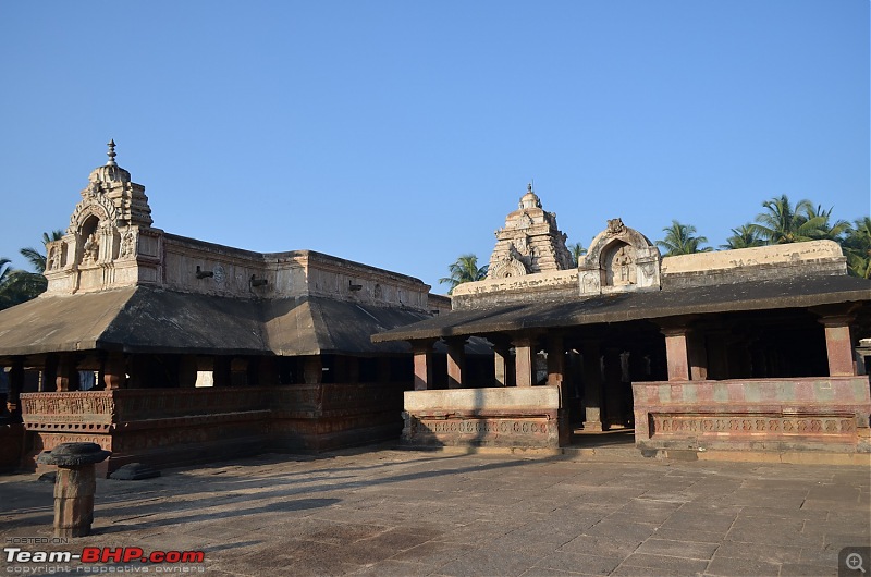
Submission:
M 95 169 L 48 291 L 0 311 L 0 467 L 63 442 L 102 474 L 382 440 L 560 452 L 634 429 L 645 455 L 871 463 L 871 281 L 817 241 L 663 258 L 608 220 L 574 266 L 528 187 L 487 279 L 452 297 L 310 250 L 154 226 Z

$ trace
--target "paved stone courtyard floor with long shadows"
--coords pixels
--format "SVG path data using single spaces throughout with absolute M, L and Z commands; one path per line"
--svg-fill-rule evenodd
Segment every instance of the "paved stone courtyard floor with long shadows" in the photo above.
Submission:
M 837 575 L 842 548 L 871 545 L 870 477 L 628 456 L 263 455 L 98 480 L 94 535 L 15 547 L 205 551 L 174 570 L 208 575 Z M 36 479 L 0 477 L 4 547 L 51 536 L 52 486 Z

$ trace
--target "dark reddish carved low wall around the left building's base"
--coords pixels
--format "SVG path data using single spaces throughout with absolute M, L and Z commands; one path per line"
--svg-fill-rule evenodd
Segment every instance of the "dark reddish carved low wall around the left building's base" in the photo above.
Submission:
M 28 451 L 60 443 L 111 451 L 108 474 L 127 463 L 171 466 L 269 451 L 323 451 L 395 439 L 401 384 L 305 384 L 122 389 L 22 395 Z

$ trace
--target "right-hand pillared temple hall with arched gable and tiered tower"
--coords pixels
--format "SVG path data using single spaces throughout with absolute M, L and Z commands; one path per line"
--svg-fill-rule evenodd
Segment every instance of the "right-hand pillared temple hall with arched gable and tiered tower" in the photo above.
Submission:
M 559 450 L 634 428 L 649 456 L 871 463 L 871 282 L 847 275 L 837 243 L 663 258 L 615 218 L 573 267 L 531 187 L 496 238 L 450 314 L 372 337 L 414 351 L 406 444 Z M 493 352 L 483 379 L 470 339 Z

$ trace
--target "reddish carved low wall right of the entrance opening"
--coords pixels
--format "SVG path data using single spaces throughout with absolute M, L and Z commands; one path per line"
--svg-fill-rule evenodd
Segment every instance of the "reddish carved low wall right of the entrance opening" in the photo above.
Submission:
M 867 377 L 633 384 L 641 450 L 871 452 Z

